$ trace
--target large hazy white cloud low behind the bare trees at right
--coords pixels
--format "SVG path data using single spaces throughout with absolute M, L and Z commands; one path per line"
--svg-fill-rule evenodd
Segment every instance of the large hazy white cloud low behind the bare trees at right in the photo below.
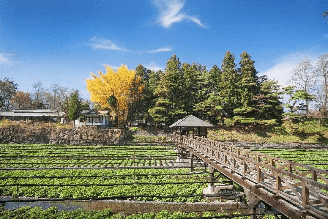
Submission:
M 308 59 L 315 65 L 318 56 L 307 52 L 286 54 L 278 58 L 273 67 L 262 71 L 260 75 L 266 75 L 268 76 L 268 79 L 277 80 L 281 86 L 291 85 L 289 82 L 291 71 L 305 57 L 308 57 Z

